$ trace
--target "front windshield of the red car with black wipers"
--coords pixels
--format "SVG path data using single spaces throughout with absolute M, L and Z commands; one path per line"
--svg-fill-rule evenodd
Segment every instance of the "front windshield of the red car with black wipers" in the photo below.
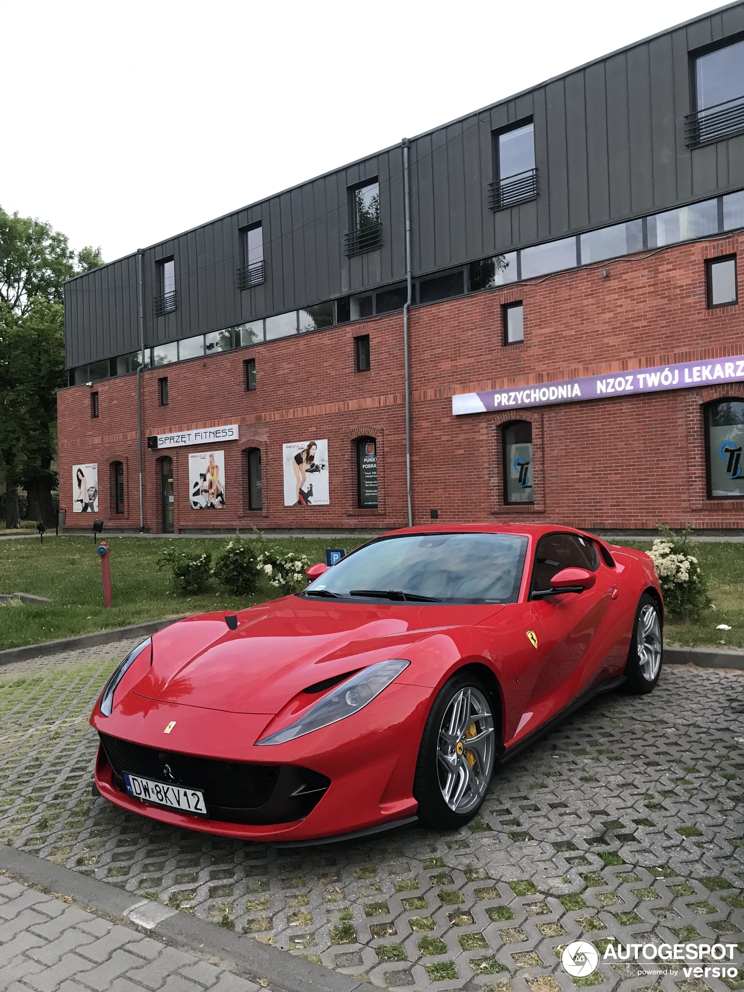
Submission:
M 380 538 L 323 572 L 306 596 L 376 602 L 514 603 L 527 538 L 413 534 Z

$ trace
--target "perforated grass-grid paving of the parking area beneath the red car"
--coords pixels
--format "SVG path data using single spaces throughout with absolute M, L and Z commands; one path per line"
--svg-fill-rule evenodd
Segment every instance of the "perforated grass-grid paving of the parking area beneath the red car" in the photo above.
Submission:
M 724 988 L 610 960 L 570 979 L 582 935 L 721 939 L 741 963 L 744 674 L 667 667 L 649 696 L 600 697 L 498 770 L 458 833 L 276 849 L 91 798 L 87 716 L 130 646 L 0 670 L 0 842 L 383 987 Z

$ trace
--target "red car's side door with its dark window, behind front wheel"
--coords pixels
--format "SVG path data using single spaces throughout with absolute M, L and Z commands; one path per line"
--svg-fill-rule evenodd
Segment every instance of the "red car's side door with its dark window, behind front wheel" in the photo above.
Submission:
M 596 575 L 590 589 L 535 597 L 551 588 L 551 579 L 562 568 L 585 568 Z M 594 681 L 607 654 L 607 635 L 612 626 L 612 594 L 616 576 L 602 562 L 589 538 L 568 532 L 544 535 L 535 549 L 530 580 L 530 600 L 539 614 L 548 658 L 536 692 L 545 699 L 555 697 L 559 707 L 585 685 Z

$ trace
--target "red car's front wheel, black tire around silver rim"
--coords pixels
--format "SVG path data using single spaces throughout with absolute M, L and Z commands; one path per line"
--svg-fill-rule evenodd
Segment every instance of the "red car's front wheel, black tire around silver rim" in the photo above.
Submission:
M 460 696 L 460 693 L 463 695 Z M 450 707 L 457 705 L 458 697 L 460 699 L 458 712 L 462 714 L 463 720 L 467 720 L 467 729 L 464 734 L 459 735 L 459 739 L 453 745 L 454 752 L 446 760 L 452 761 L 451 781 L 465 783 L 463 787 L 465 792 L 459 801 L 461 809 L 450 808 L 447 805 L 440 781 L 446 779 L 440 743 L 442 747 L 447 745 L 450 736 L 448 728 L 454 712 Z M 445 716 L 448 716 L 447 728 L 442 727 Z M 488 792 L 496 761 L 495 717 L 491 694 L 483 682 L 470 672 L 465 671 L 452 676 L 439 690 L 424 727 L 414 779 L 414 798 L 419 803 L 419 819 L 425 826 L 454 830 L 471 820 L 480 809 Z M 473 727 L 475 728 L 473 735 L 469 736 Z M 469 777 L 465 761 L 472 773 Z M 441 770 L 440 766 L 442 766 Z M 450 780 L 446 779 L 446 781 Z M 452 800 L 455 800 L 457 794 L 458 790 L 453 789 Z

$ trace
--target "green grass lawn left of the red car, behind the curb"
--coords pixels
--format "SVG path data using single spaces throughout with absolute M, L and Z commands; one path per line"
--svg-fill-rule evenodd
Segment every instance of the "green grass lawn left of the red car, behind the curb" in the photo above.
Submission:
M 170 569 L 158 571 L 158 556 L 169 545 L 197 555 L 209 552 L 213 563 L 229 540 L 109 537 L 114 600 L 111 609 L 103 606 L 100 558 L 95 553 L 98 542 L 92 537 L 53 537 L 43 545 L 38 538 L 2 541 L 0 592 L 30 592 L 53 602 L 42 606 L 0 605 L 0 648 L 39 644 L 186 613 L 244 609 L 277 596 L 277 589 L 268 582 L 259 586 L 253 596 L 231 596 L 214 578 L 203 595 L 182 596 L 175 591 Z M 325 560 L 326 547 L 345 547 L 350 552 L 361 542 L 358 538 L 340 542 L 337 538 L 272 538 L 261 544 L 285 554 L 294 551 L 307 555 L 312 563 Z

